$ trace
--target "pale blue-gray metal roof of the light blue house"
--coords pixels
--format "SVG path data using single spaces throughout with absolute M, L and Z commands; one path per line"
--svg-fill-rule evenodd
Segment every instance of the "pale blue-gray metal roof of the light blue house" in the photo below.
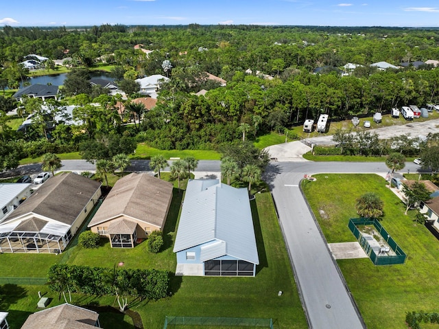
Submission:
M 207 242 L 212 243 L 202 250 L 202 260 L 227 254 L 259 264 L 246 188 L 233 188 L 217 179 L 187 183 L 174 252 Z

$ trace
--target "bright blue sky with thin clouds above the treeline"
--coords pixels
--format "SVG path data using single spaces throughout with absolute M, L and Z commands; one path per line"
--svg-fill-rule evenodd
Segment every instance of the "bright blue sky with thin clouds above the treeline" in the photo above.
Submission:
M 3 0 L 0 26 L 331 25 L 439 27 L 438 0 Z

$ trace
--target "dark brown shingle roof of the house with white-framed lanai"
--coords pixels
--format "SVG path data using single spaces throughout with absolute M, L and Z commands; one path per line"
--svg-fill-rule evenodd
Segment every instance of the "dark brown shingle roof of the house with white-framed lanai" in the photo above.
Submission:
M 100 186 L 101 183 L 72 172 L 51 177 L 3 223 L 26 214 L 38 214 L 72 225 Z

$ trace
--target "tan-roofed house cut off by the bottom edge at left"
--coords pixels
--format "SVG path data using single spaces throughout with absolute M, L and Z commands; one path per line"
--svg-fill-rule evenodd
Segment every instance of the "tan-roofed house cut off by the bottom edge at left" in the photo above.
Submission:
M 101 328 L 99 314 L 72 304 L 61 304 L 29 315 L 21 329 Z

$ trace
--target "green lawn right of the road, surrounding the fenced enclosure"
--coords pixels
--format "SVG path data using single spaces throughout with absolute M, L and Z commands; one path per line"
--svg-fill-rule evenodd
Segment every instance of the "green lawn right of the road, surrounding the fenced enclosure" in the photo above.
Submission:
M 402 265 L 375 266 L 369 259 L 338 260 L 349 289 L 369 329 L 405 329 L 405 313 L 438 312 L 439 242 L 423 226 L 414 223 L 415 211 L 405 206 L 373 174 L 318 174 L 303 188 L 328 242 L 355 241 L 348 229 L 357 217 L 355 201 L 374 191 L 384 202 L 383 227 L 407 254 Z

